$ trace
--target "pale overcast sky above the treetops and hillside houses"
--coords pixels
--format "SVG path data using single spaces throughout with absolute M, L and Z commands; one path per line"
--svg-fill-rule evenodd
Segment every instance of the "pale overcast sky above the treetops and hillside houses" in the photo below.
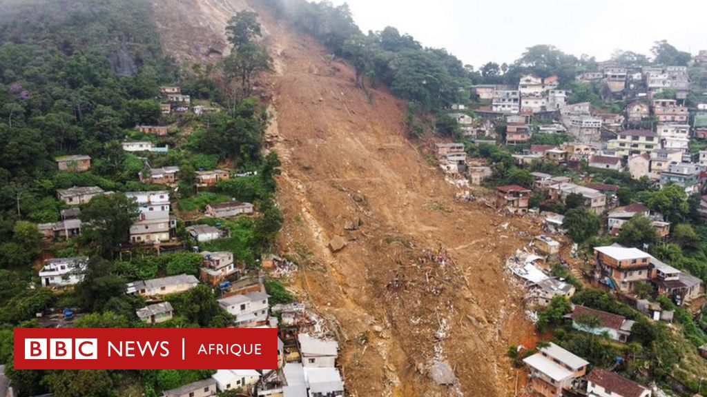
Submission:
M 703 0 L 332 0 L 344 2 L 364 33 L 394 26 L 476 68 L 510 63 L 536 44 L 599 61 L 614 49 L 650 56 L 663 39 L 693 54 L 707 49 Z

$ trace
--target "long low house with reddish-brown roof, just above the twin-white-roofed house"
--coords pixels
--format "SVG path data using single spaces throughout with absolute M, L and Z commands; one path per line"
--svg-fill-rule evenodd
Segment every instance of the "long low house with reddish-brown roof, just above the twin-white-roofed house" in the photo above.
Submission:
M 571 314 L 572 328 L 594 335 L 607 335 L 617 342 L 626 343 L 631 336 L 634 321 L 624 316 L 575 305 Z

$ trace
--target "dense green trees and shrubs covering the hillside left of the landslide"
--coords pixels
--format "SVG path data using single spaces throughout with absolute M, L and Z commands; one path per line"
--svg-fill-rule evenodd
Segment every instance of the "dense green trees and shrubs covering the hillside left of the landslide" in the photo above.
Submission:
M 0 362 L 7 364 L 20 396 L 158 396 L 211 376 L 209 371 L 12 369 L 12 327 L 42 326 L 45 319 L 35 314 L 72 307 L 74 326 L 148 326 L 135 313 L 144 299 L 126 295 L 126 283 L 199 273 L 201 256 L 189 251 L 159 256 L 147 249 L 118 251 L 137 214 L 122 192 L 165 189 L 139 182 L 147 165 L 180 167 L 179 186 L 170 192 L 175 211 L 198 212 L 206 203 L 232 198 L 257 206 L 254 218 L 210 220 L 230 227 L 231 237 L 202 248 L 232 250 L 236 261 L 254 267 L 280 228 L 282 215 L 273 199 L 280 163 L 275 153 L 262 155 L 268 117 L 259 100 L 247 97 L 250 79 L 268 70 L 269 57 L 252 45 L 252 35 L 240 35 L 233 42 L 240 47 L 226 63 L 177 65 L 161 50 L 151 13 L 141 0 L 0 4 Z M 233 37 L 243 31 L 238 18 L 230 26 Z M 223 71 L 226 81 L 217 83 L 216 71 Z M 192 101 L 222 111 L 162 114 L 160 85 L 180 85 Z M 168 125 L 169 135 L 144 135 L 134 130 L 136 124 Z M 167 143 L 170 150 L 133 155 L 122 150 L 124 138 Z M 54 158 L 70 154 L 90 155 L 90 170 L 59 172 Z M 197 194 L 194 172 L 216 167 L 253 173 Z M 59 220 L 59 211 L 68 206 L 57 200 L 57 189 L 71 186 L 99 186 L 116 194 L 81 206 L 86 227 L 80 237 L 43 242 L 36 223 Z M 186 240 L 184 227 L 178 225 L 177 235 Z M 90 256 L 86 278 L 69 290 L 30 288 L 38 282 L 42 251 L 49 257 Z M 291 299 L 286 291 L 276 292 L 280 301 Z M 230 316 L 216 298 L 204 285 L 168 296 L 175 316 L 154 326 L 227 326 Z

